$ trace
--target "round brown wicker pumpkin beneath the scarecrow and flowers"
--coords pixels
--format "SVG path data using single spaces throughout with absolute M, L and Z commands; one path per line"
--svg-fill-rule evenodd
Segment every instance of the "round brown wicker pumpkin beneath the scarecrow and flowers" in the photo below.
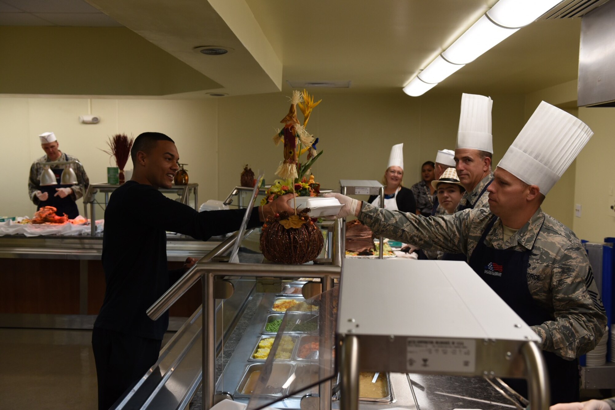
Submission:
M 298 215 L 280 212 L 267 217 L 261 233 L 261 252 L 271 262 L 301 265 L 320 255 L 325 241 L 322 231 L 308 216 L 308 209 Z

